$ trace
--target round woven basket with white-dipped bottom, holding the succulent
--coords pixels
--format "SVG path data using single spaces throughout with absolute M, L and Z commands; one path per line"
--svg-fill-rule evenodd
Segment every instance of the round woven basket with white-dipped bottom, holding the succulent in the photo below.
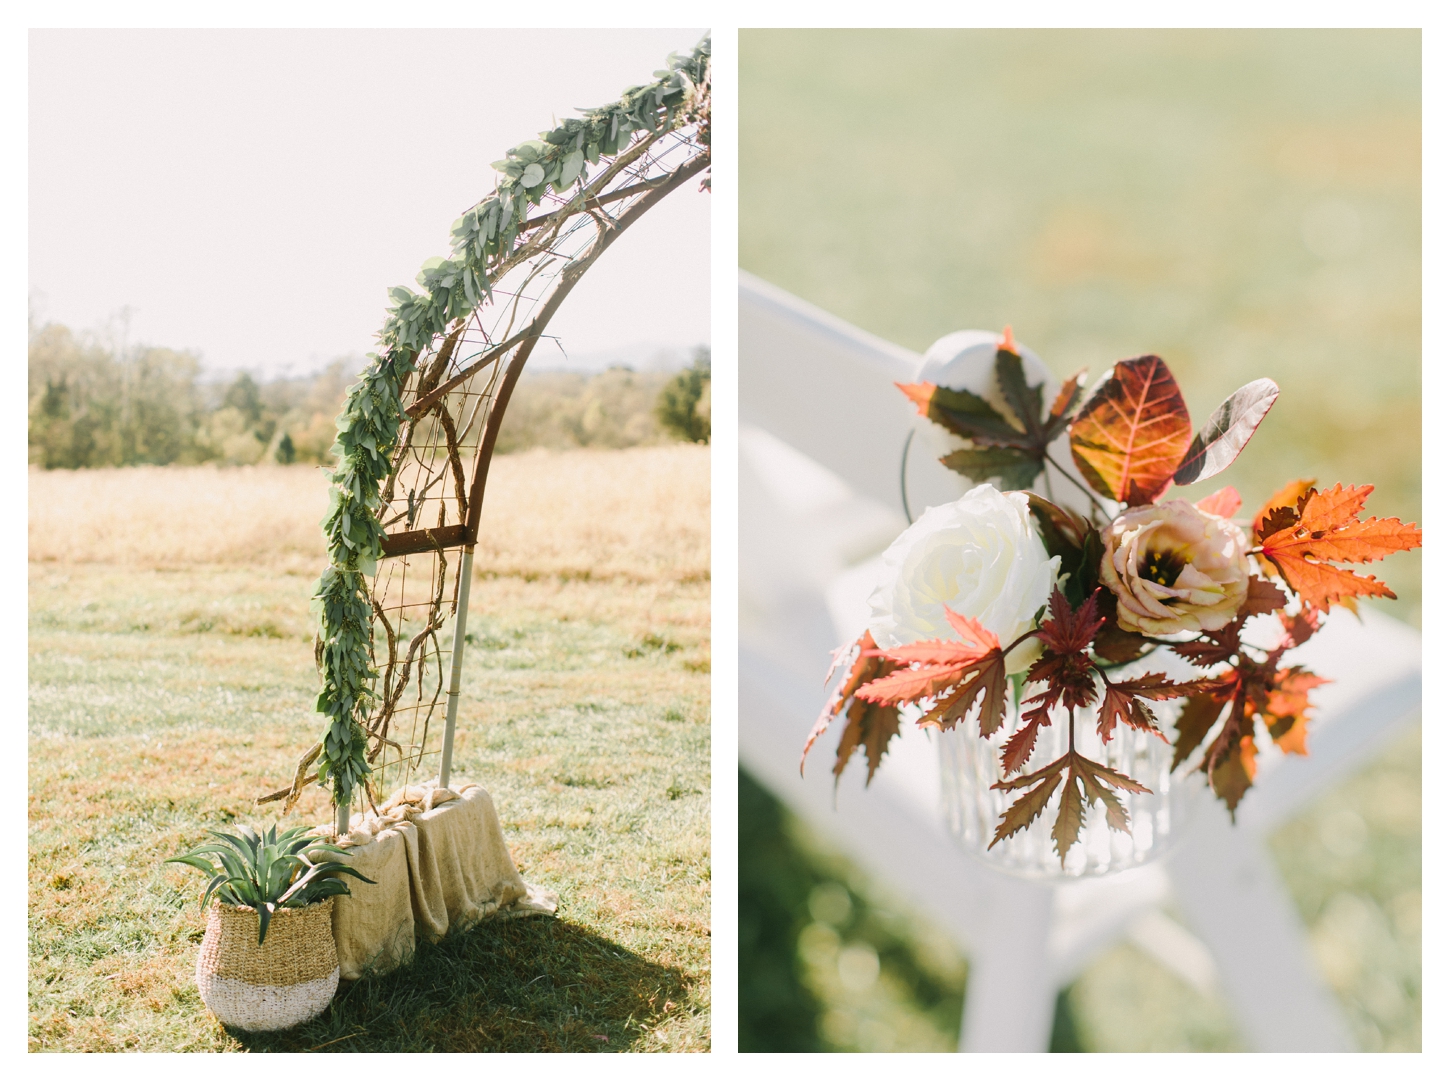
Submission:
M 332 900 L 278 909 L 257 945 L 257 910 L 212 901 L 196 959 L 202 1001 L 246 1032 L 290 1029 L 328 1009 L 338 990 Z

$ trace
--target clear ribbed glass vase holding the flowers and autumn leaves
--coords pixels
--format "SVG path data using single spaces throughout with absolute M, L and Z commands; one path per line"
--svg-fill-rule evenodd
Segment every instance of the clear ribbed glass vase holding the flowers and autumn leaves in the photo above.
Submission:
M 1161 665 L 1157 665 L 1161 669 Z M 1147 659 L 1114 672 L 1114 678 L 1131 678 L 1148 671 Z M 1173 739 L 1170 723 L 1180 709 L 1177 701 L 1153 703 L 1159 725 L 1169 740 Z M 1080 755 L 1095 762 L 1127 774 L 1138 781 L 1148 794 L 1112 790 L 1128 810 L 1130 833 L 1108 827 L 1102 804 L 1088 807 L 1077 843 L 1067 851 L 1066 864 L 1053 848 L 1053 823 L 1061 806 L 1066 785 L 1047 803 L 1047 809 L 1025 830 L 999 840 L 992 849 L 1002 813 L 1025 790 L 1003 791 L 992 788 L 1003 780 L 1002 745 L 1016 732 L 1019 706 L 1009 700 L 1008 719 L 990 738 L 977 733 L 976 717 L 969 717 L 951 732 L 937 732 L 937 754 L 941 762 L 941 798 L 947 829 L 957 843 L 972 856 L 1011 874 L 1032 878 L 1080 878 L 1125 871 L 1151 859 L 1157 859 L 1182 833 L 1189 807 L 1186 785 L 1174 787 L 1170 765 L 1173 746 L 1151 732 L 1118 725 L 1106 743 L 1098 738 L 1096 707 L 1077 710 L 1074 746 Z M 1053 711 L 1053 723 L 1038 729 L 1037 746 L 1024 772 L 1041 769 L 1067 754 L 1067 710 Z

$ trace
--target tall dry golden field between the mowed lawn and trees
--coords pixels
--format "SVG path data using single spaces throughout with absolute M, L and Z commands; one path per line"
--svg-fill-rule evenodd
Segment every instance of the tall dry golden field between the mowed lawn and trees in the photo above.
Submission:
M 709 449 L 494 458 L 474 556 L 486 575 L 703 581 Z M 30 469 L 30 562 L 265 565 L 320 572 L 315 465 Z

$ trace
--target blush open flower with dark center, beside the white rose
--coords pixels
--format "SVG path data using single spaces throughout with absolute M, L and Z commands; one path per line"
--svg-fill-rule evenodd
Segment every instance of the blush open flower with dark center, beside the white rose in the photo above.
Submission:
M 1248 596 L 1244 532 L 1185 500 L 1125 510 L 1102 539 L 1102 584 L 1124 630 L 1218 630 Z

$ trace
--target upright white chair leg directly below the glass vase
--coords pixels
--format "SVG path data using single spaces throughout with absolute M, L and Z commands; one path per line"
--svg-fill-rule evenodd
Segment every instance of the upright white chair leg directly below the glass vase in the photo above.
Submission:
M 1053 890 L 1006 877 L 990 888 L 995 933 L 970 958 L 960 1049 L 1047 1051 L 1057 1000 L 1047 955 Z

